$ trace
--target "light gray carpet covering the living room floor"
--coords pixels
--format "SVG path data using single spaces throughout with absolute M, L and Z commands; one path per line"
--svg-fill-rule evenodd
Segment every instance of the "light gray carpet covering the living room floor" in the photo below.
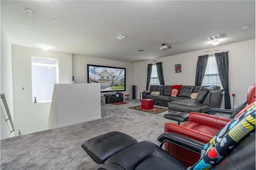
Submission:
M 1 170 L 96 170 L 101 165 L 82 149 L 85 140 L 120 131 L 138 142 L 149 140 L 159 145 L 157 138 L 164 132 L 164 123 L 177 123 L 163 117 L 168 111 L 150 114 L 128 108 L 139 105 L 139 100 L 124 102 L 128 104 L 101 105 L 100 120 L 1 140 Z

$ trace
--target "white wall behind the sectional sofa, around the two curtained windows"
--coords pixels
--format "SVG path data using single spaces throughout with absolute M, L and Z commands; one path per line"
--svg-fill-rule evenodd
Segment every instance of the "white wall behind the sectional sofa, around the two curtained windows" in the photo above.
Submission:
M 172 49 L 170 49 L 172 50 Z M 205 50 L 198 50 L 184 54 L 158 58 L 157 62 L 163 62 L 164 82 L 166 85 L 184 84 L 194 85 L 196 77 L 196 64 L 198 56 L 214 55 L 216 52 L 228 52 L 229 58 L 229 86 L 230 95 L 236 94 L 234 107 L 236 108 L 244 100 L 249 86 L 255 82 L 255 39 L 218 46 Z M 147 68 L 148 64 L 152 64 L 153 60 L 134 63 L 134 84 L 138 87 L 136 93 L 146 88 Z M 175 73 L 174 65 L 181 64 L 182 72 Z M 252 82 L 249 82 L 249 78 Z M 230 96 L 231 107 L 233 106 L 233 98 Z M 223 108 L 224 106 L 222 106 Z

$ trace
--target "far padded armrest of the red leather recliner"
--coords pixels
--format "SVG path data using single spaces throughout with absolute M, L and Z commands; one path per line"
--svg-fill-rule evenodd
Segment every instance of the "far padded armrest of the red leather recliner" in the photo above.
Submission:
M 203 125 L 212 126 L 214 128 L 221 129 L 227 123 L 230 122 L 230 119 L 212 116 L 209 114 L 190 112 L 188 116 L 188 121 L 192 121 L 198 124 L 203 124 Z

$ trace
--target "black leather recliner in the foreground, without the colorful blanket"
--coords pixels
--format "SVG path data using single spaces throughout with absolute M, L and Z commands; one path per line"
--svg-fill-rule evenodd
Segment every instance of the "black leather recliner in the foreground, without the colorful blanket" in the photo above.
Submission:
M 125 143 L 130 144 L 130 146 L 119 147 L 116 142 L 112 141 L 114 138 L 118 139 L 115 140 L 118 143 L 128 140 Z M 98 145 L 95 141 L 101 144 L 98 143 Z M 202 142 L 172 132 L 162 134 L 159 136 L 158 141 L 162 142 L 162 144 L 168 141 L 198 154 L 200 154 L 200 150 L 204 146 Z M 98 146 L 93 147 L 93 143 Z M 104 163 L 98 170 L 186 170 L 188 168 L 160 146 L 149 141 L 137 142 L 132 137 L 121 132 L 110 132 L 92 138 L 82 144 L 84 150 L 96 163 Z M 111 152 L 105 152 L 105 149 L 111 150 Z M 254 169 L 255 130 L 240 141 L 228 156 L 212 168 L 212 170 Z

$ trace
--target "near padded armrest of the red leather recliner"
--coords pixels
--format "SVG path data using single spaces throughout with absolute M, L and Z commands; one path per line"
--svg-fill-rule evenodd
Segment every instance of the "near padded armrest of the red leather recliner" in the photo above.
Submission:
M 164 132 L 181 134 L 187 136 L 188 138 L 192 138 L 204 143 L 208 143 L 213 138 L 212 135 L 205 134 L 203 132 L 199 132 L 190 128 L 182 127 L 178 124 L 173 123 L 166 123 L 164 126 Z

